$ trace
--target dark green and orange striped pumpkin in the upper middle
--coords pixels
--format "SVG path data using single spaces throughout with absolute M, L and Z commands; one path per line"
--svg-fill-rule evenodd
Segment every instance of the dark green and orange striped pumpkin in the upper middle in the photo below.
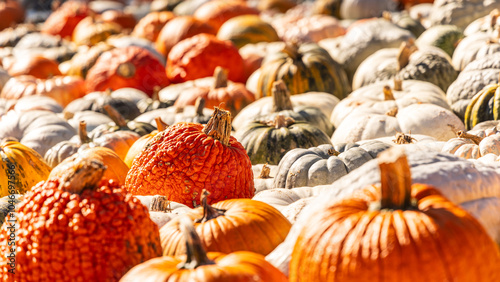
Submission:
M 292 47 L 293 48 L 293 47 Z M 272 84 L 283 80 L 290 93 L 327 92 L 343 99 L 351 91 L 347 75 L 328 52 L 314 43 L 300 45 L 297 54 L 270 54 L 260 68 L 258 98 L 271 96 Z

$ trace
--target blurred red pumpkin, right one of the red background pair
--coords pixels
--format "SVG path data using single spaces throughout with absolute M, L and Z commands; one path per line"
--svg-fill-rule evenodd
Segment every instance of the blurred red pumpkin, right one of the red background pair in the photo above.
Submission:
M 227 69 L 231 81 L 240 82 L 243 59 L 231 41 L 201 33 L 177 43 L 167 57 L 167 76 L 173 83 L 211 76 L 216 67 Z

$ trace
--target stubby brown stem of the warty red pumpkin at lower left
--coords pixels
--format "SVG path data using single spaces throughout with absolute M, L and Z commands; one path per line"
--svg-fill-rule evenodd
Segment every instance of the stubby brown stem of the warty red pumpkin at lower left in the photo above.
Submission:
M 105 170 L 106 166 L 100 161 L 77 159 L 60 177 L 59 189 L 76 194 L 96 189 Z

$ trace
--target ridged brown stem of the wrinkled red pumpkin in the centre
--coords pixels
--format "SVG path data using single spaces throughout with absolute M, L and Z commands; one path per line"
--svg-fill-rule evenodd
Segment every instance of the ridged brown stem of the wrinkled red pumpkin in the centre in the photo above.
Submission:
M 214 107 L 214 112 L 203 128 L 203 133 L 228 146 L 231 137 L 231 113 Z

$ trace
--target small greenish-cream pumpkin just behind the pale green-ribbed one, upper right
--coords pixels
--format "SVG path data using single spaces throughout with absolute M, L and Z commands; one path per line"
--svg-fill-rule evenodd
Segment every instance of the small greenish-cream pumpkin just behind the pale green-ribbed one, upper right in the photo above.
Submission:
M 464 38 L 461 29 L 454 25 L 435 25 L 425 30 L 415 41 L 419 47 L 435 46 L 445 51 L 450 57 L 457 45 Z

